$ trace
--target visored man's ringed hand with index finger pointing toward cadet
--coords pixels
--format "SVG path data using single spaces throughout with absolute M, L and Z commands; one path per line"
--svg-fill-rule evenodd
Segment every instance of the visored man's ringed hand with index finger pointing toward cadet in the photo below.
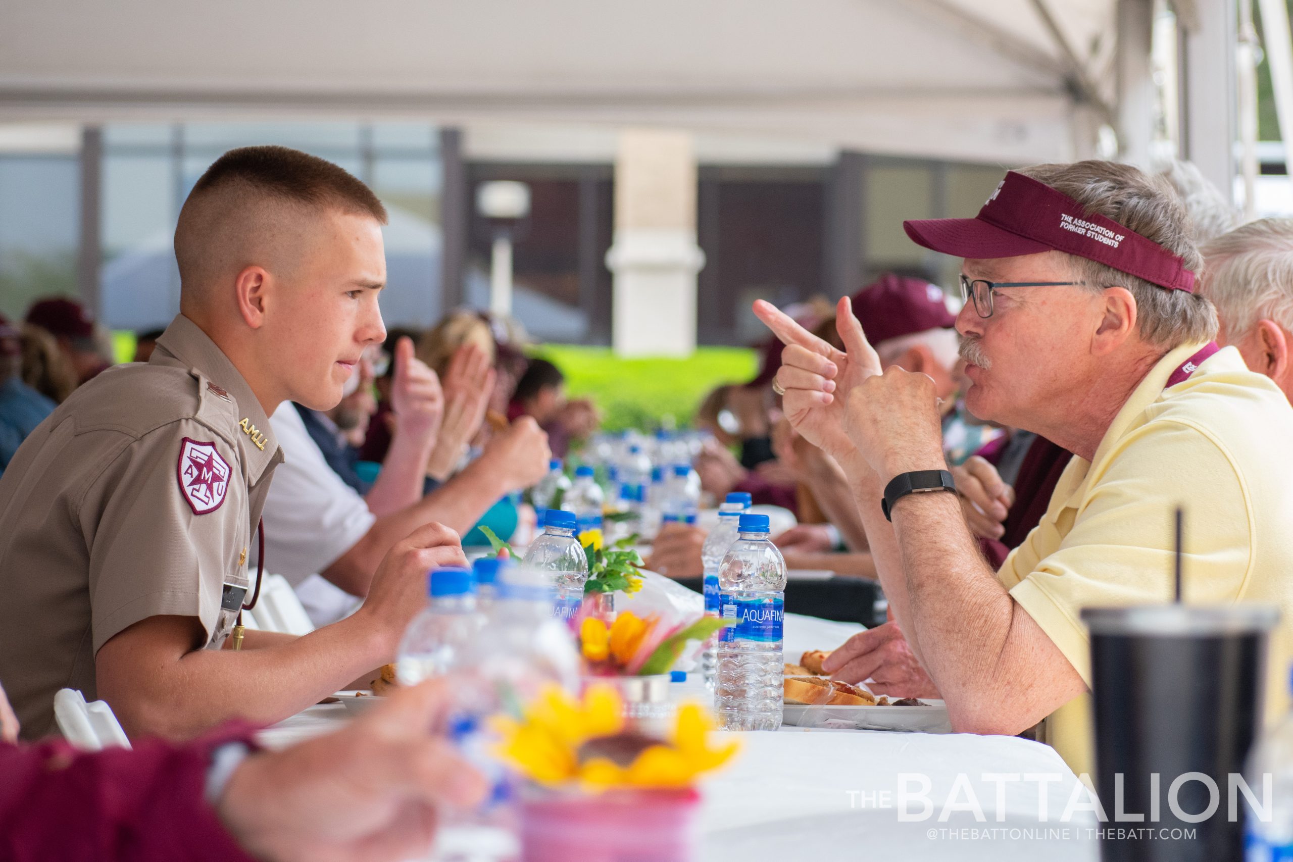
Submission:
M 839 301 L 835 315 L 846 352 L 812 335 L 769 302 L 758 300 L 754 313 L 786 345 L 776 377 L 786 393 L 782 398 L 786 419 L 809 443 L 837 459 L 846 457 L 853 450 L 844 430 L 848 393 L 881 372 L 879 357 L 862 335 L 848 297 Z

